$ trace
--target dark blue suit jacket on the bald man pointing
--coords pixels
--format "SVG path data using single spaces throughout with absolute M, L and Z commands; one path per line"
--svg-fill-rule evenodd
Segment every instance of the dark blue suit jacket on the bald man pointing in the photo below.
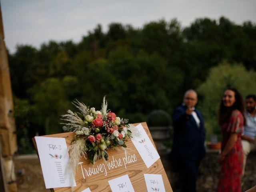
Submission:
M 200 127 L 192 115 L 186 114 L 186 106 L 176 108 L 172 115 L 174 139 L 172 156 L 178 159 L 197 160 L 204 156 L 204 120 L 199 110 L 195 112 L 200 119 Z

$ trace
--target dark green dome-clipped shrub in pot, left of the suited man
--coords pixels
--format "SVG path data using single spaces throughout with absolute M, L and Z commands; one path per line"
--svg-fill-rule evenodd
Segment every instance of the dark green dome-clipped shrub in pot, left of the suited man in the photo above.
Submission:
M 164 110 L 154 110 L 148 115 L 148 126 L 169 126 L 170 115 Z

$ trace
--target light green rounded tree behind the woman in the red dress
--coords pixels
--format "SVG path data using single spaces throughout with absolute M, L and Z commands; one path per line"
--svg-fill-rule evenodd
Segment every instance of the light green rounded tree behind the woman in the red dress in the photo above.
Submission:
M 256 72 L 248 71 L 242 64 L 230 64 L 223 61 L 212 68 L 206 81 L 198 89 L 198 95 L 202 98 L 198 108 L 205 118 L 207 138 L 210 134 L 218 134 L 220 127 L 217 124 L 217 111 L 222 94 L 228 87 L 235 87 L 245 97 L 256 93 Z

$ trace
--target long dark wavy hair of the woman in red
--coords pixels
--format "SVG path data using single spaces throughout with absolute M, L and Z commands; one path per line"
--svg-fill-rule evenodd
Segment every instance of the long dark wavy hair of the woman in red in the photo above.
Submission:
M 232 111 L 235 109 L 239 110 L 244 117 L 244 101 L 243 101 L 242 95 L 240 94 L 240 92 L 238 92 L 238 90 L 236 88 L 228 88 L 224 92 L 226 92 L 227 90 L 231 90 L 235 93 L 236 101 L 234 102 L 234 104 L 231 107 L 226 107 L 226 106 L 224 106 L 223 95 L 222 95 L 219 110 L 218 110 L 218 124 L 220 126 L 222 124 L 228 122 L 228 120 L 232 114 Z M 245 124 L 245 118 L 244 118 L 244 124 Z

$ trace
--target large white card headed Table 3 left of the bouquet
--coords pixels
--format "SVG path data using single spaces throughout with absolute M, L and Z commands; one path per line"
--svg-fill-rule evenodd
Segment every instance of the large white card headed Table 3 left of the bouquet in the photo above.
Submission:
M 70 187 L 70 175 L 66 174 L 69 161 L 66 140 L 53 137 L 35 137 L 35 140 L 46 189 Z

